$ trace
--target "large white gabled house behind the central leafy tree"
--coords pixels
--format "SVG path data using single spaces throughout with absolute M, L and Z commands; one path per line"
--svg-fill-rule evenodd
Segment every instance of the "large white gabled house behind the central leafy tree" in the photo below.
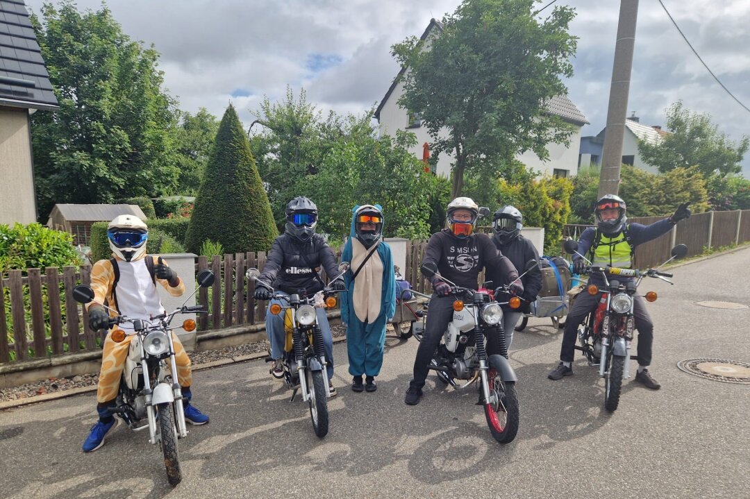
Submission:
M 425 32 L 422 33 L 421 40 L 425 42 L 425 49 L 429 49 L 433 37 L 438 36 L 443 30 L 443 25 L 436 19 L 431 19 Z M 396 130 L 407 130 L 414 133 L 417 138 L 417 145 L 412 152 L 416 157 L 425 159 L 428 155 L 429 144 L 433 142 L 426 127 L 422 127 L 419 121 L 419 115 L 410 114 L 407 109 L 398 105 L 398 100 L 404 94 L 404 83 L 401 82 L 401 75 L 407 68 L 401 68 L 401 71 L 393 80 L 390 88 L 386 92 L 383 100 L 375 111 L 375 118 L 380 124 L 380 133 L 395 135 Z M 542 162 L 536 154 L 527 151 L 524 154 L 517 155 L 516 159 L 526 164 L 526 166 L 541 172 L 541 175 L 553 175 L 558 177 L 568 177 L 575 175 L 578 171 L 578 145 L 580 143 L 580 130 L 583 125 L 588 124 L 586 116 L 580 112 L 565 95 L 554 97 L 547 103 L 547 112 L 558 115 L 568 123 L 574 126 L 574 132 L 569 136 L 570 145 L 555 144 L 550 142 L 547 145 L 549 159 Z M 442 136 L 441 131 L 440 135 Z M 452 154 L 443 153 L 437 159 L 435 173 L 449 177 L 451 166 L 455 157 Z

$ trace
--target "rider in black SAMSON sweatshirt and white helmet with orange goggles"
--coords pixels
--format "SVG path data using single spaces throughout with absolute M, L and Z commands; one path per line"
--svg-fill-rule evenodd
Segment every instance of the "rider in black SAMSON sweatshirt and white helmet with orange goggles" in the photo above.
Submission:
M 518 273 L 511 261 L 495 248 L 486 234 L 475 234 L 474 228 L 479 215 L 479 207 L 472 199 L 459 197 L 448 205 L 448 229 L 436 232 L 428 241 L 422 264 L 437 265 L 438 274 L 430 278 L 434 294 L 428 309 L 425 336 L 419 342 L 416 358 L 414 359 L 414 377 L 409 384 L 404 402 L 408 405 L 419 404 L 422 397 L 422 387 L 428 374 L 428 366 L 440 344 L 440 338 L 453 318 L 454 297 L 450 296 L 451 286 L 441 279 L 454 282 L 463 288 L 478 288 L 478 275 L 484 267 L 494 268 L 502 276 L 502 282 L 512 282 L 510 291 L 513 294 L 523 294 L 523 284 L 515 280 Z M 499 285 L 501 282 L 494 282 Z M 499 332 L 499 328 L 497 328 Z M 488 335 L 487 354 L 499 354 L 498 337 Z

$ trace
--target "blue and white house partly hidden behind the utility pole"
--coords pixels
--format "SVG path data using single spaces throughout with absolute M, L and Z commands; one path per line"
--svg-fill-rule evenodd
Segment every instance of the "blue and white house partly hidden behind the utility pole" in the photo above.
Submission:
M 601 166 L 601 151 L 604 149 L 604 135 L 607 128 L 598 135 L 580 138 L 580 151 L 578 154 L 578 168 L 587 168 L 589 165 Z M 646 170 L 650 173 L 658 173 L 655 166 L 649 165 L 640 157 L 638 152 L 638 141 L 658 144 L 667 132 L 661 130 L 657 125 L 648 126 L 640 124 L 640 119 L 632 115 L 625 120 L 625 135 L 622 137 L 622 164 L 631 165 Z

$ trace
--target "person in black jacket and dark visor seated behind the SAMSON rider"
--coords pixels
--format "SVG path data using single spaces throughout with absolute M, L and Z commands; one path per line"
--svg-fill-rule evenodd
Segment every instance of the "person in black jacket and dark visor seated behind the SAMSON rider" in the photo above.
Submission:
M 514 206 L 503 206 L 493 215 L 492 241 L 497 250 L 511 261 L 519 273 L 526 270 L 526 263 L 529 260 L 536 261 L 536 267 L 521 277 L 523 283 L 523 294 L 520 295 L 521 308 L 514 310 L 509 306 L 502 306 L 502 330 L 505 332 L 505 345 L 508 350 L 511 348 L 513 330 L 518 319 L 523 312 L 529 312 L 529 305 L 536 300 L 536 295 L 541 289 L 539 253 L 532 242 L 520 234 L 520 229 L 523 229 L 523 215 Z M 487 269 L 487 280 L 502 282 L 502 276 L 497 275 L 496 270 L 496 267 Z M 495 281 L 495 279 L 499 280 Z

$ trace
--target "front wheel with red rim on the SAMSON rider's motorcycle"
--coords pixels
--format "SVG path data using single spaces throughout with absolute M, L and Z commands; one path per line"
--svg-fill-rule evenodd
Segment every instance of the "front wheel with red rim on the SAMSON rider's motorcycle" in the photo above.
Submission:
M 500 373 L 490 368 L 487 371 L 490 397 L 495 402 L 484 404 L 484 417 L 493 438 L 500 444 L 509 444 L 518 432 L 518 397 L 514 381 L 502 381 Z

